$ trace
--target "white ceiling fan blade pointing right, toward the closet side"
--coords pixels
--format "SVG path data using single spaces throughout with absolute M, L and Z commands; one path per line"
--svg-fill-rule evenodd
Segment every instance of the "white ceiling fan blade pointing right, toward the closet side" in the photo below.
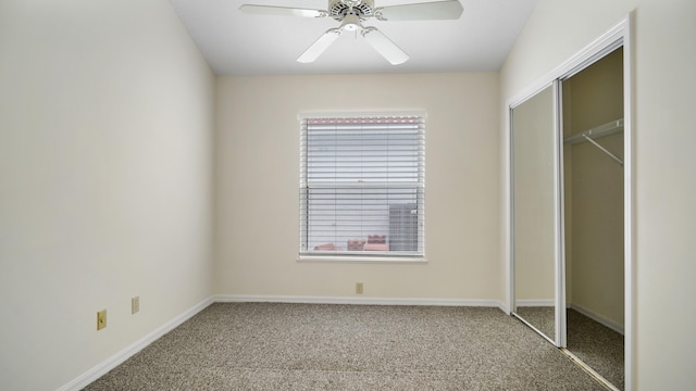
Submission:
M 384 7 L 375 10 L 383 21 L 457 20 L 464 9 L 459 0 Z

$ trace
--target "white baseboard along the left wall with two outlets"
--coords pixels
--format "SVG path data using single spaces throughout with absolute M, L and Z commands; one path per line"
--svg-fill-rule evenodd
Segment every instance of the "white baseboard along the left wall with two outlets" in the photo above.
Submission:
M 138 353 L 139 351 L 145 349 L 150 343 L 154 342 L 160 337 L 162 337 L 165 333 L 172 331 L 173 329 L 178 327 L 181 324 L 183 324 L 184 321 L 188 320 L 194 315 L 198 314 L 199 312 L 201 312 L 203 308 L 206 308 L 207 306 L 209 306 L 212 303 L 213 303 L 213 297 L 210 297 L 210 298 L 201 301 L 200 303 L 194 305 L 192 307 L 190 307 L 189 310 L 187 310 L 183 314 L 181 314 L 177 317 L 175 317 L 174 319 L 165 323 L 161 327 L 154 329 L 152 332 L 148 333 L 147 336 L 145 336 L 145 337 L 140 338 L 139 340 L 137 340 L 136 342 L 132 343 L 126 349 L 124 349 L 124 350 L 120 351 L 119 353 L 114 354 L 113 356 L 107 358 L 104 362 L 102 362 L 99 365 L 92 367 L 91 369 L 89 369 L 85 374 L 80 375 L 79 377 L 77 377 L 73 381 L 71 381 L 67 384 L 61 387 L 60 389 L 58 389 L 58 391 L 77 391 L 77 390 L 82 390 L 83 388 L 87 387 L 92 381 L 99 379 L 100 377 L 105 375 L 111 369 L 117 367 L 123 362 L 125 362 L 126 360 L 130 358 L 134 354 Z

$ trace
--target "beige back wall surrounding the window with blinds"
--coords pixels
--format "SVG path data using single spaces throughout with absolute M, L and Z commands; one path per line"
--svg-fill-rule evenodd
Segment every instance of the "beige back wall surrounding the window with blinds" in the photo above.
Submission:
M 221 294 L 502 300 L 498 75 L 221 77 Z M 425 110 L 427 264 L 297 262 L 301 112 Z

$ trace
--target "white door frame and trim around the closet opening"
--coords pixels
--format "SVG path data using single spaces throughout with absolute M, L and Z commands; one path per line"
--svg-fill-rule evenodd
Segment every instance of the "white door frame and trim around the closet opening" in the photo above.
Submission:
M 634 48 L 633 48 L 633 13 L 627 14 L 616 25 L 609 28 L 605 34 L 597 37 L 582 50 L 573 54 L 562 64 L 554 68 L 544 77 L 536 80 L 534 84 L 525 88 L 520 93 L 515 94 L 512 99 L 506 102 L 506 250 L 507 250 L 507 308 L 506 312 L 511 314 L 514 306 L 514 265 L 513 265 L 513 232 L 512 232 L 512 159 L 511 159 L 511 110 L 512 108 L 521 104 L 536 92 L 540 91 L 545 86 L 549 84 L 557 84 L 559 80 L 568 79 L 574 74 L 583 71 L 591 64 L 600 60 L 611 51 L 623 47 L 623 116 L 624 116 L 624 142 L 623 142 L 623 161 L 624 161 L 624 175 L 623 175 L 623 188 L 624 188 L 624 371 L 625 371 L 625 390 L 633 390 L 634 376 L 635 376 L 635 350 L 634 350 L 634 328 L 635 328 L 635 303 L 636 303 L 636 290 L 635 290 L 635 260 L 634 260 L 634 243 L 635 243 L 635 229 L 634 229 L 634 204 L 635 204 L 635 180 L 634 180 Z M 557 93 L 560 92 L 557 90 Z M 561 108 L 560 102 L 557 99 L 555 101 L 557 106 L 555 108 L 555 116 L 557 118 L 556 137 L 562 140 L 560 135 L 560 119 Z M 557 216 L 557 231 L 555 237 L 560 243 L 557 243 L 557 265 L 556 265 L 556 305 L 561 311 L 556 311 L 556 341 L 555 344 L 559 348 L 566 346 L 566 276 L 564 276 L 564 251 L 563 251 L 563 216 L 562 216 L 562 169 L 560 167 L 560 159 L 562 157 L 562 146 L 557 148 L 561 149 L 561 154 L 555 155 L 555 171 L 557 171 L 557 180 L 560 181 L 560 186 L 557 187 L 557 194 L 561 207 L 555 206 L 555 210 L 559 215 Z M 558 204 L 558 202 L 556 202 Z M 559 210 L 561 212 L 559 212 Z M 561 319 L 561 317 L 563 317 Z

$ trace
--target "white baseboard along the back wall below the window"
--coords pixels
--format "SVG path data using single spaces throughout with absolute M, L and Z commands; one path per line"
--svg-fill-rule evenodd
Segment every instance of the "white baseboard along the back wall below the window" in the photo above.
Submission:
M 216 303 L 299 303 L 299 304 L 357 304 L 357 305 L 437 305 L 437 306 L 489 306 L 506 312 L 498 300 L 480 299 L 400 299 L 400 298 L 353 298 L 353 297 L 295 297 L 295 295 L 247 295 L 219 294 Z

